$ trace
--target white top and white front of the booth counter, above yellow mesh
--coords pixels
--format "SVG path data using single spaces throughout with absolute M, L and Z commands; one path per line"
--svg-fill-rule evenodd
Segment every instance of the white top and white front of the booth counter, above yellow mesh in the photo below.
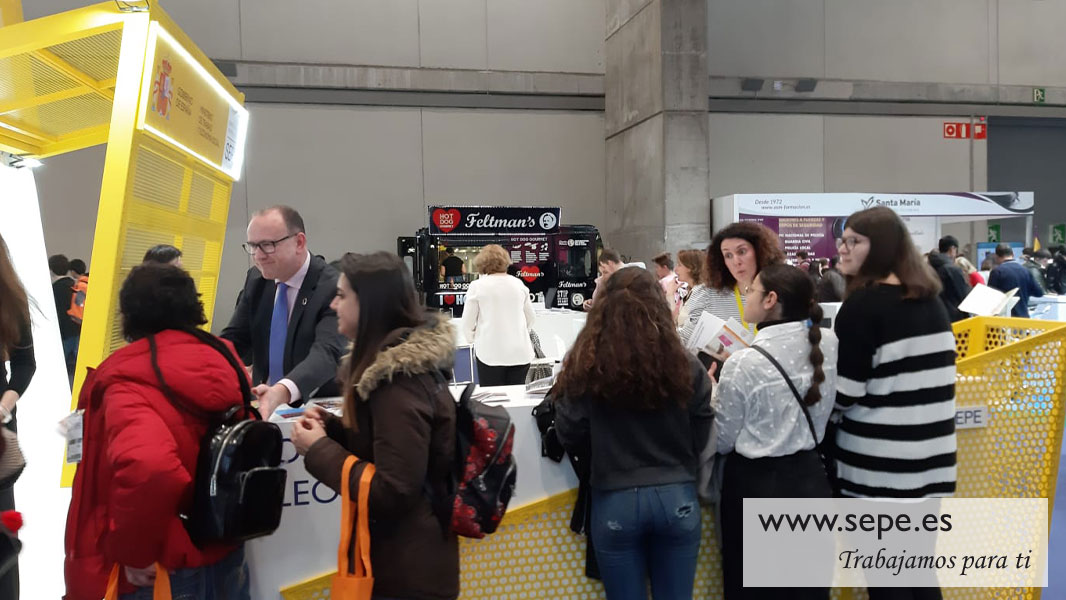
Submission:
M 540 434 L 532 416 L 540 398 L 528 398 L 522 386 L 494 389 L 508 395 L 500 406 L 507 409 L 515 424 L 518 481 L 508 510 L 577 487 L 569 461 L 556 464 L 540 457 Z M 453 388 L 455 394 L 461 391 Z M 289 441 L 293 421 L 275 421 L 286 438 L 281 463 L 289 473 L 281 525 L 274 535 L 245 547 L 252 597 L 262 600 L 278 600 L 280 588 L 336 570 L 340 538 L 339 497 L 307 473 L 303 458 Z

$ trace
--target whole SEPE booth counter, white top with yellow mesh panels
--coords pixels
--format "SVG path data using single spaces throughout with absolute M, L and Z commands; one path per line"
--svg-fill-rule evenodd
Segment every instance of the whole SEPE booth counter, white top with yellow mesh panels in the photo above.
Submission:
M 1062 378 L 1066 326 L 1050 321 L 981 318 L 954 324 L 958 352 L 956 429 L 959 498 L 1047 498 L 1054 501 L 1062 443 Z M 990 374 L 1015 373 L 1014 376 Z M 461 598 L 603 598 L 584 574 L 585 538 L 569 530 L 577 481 L 568 463 L 540 457 L 531 415 L 538 398 L 523 388 L 497 388 L 515 423 L 516 496 L 499 530 L 459 540 Z M 458 388 L 455 389 L 458 393 Z M 288 433 L 291 422 L 281 423 Z M 1004 447 L 1003 440 L 1012 440 Z M 336 570 L 339 501 L 310 477 L 286 447 L 290 491 L 277 533 L 247 545 L 253 597 L 312 600 L 327 597 Z M 721 557 L 711 510 L 702 531 L 694 598 L 721 598 Z M 1001 589 L 944 589 L 944 598 L 1001 598 Z M 1015 591 L 1015 590 L 1012 590 Z M 1019 589 L 1014 598 L 1039 598 Z M 838 588 L 837 600 L 861 598 Z

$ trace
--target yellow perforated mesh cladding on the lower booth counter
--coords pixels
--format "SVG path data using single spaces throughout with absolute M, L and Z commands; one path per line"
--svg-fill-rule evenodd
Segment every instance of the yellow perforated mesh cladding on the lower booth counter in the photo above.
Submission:
M 956 323 L 959 408 L 987 406 L 986 427 L 959 429 L 958 489 L 964 498 L 1047 498 L 1054 503 L 1063 432 L 1066 323 L 970 319 Z M 459 539 L 461 598 L 603 598 L 584 577 L 585 538 L 570 532 L 575 491 L 511 510 L 497 533 Z M 338 519 L 339 519 L 338 514 Z M 704 509 L 694 598 L 722 598 L 714 519 Z M 327 573 L 281 590 L 285 600 L 329 598 Z M 866 600 L 837 588 L 835 600 Z M 1037 600 L 1039 589 L 944 588 L 953 600 Z

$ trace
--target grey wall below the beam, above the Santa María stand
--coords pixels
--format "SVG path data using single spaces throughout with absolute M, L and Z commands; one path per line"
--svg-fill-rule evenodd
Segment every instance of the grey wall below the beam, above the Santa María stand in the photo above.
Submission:
M 987 185 L 985 141 L 940 117 L 710 115 L 711 197 L 759 192 L 958 192 Z M 964 120 L 962 118 L 956 120 Z

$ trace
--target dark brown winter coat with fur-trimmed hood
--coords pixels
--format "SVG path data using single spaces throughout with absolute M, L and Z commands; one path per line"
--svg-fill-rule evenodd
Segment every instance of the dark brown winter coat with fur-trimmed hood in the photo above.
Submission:
M 375 596 L 458 596 L 458 541 L 445 533 L 426 491 L 429 482 L 433 496 L 442 497 L 455 452 L 455 402 L 433 375 L 452 368 L 454 339 L 445 320 L 392 331 L 356 384 L 357 431 L 330 419 L 328 437 L 314 442 L 304 458 L 311 475 L 340 491 L 344 459 L 358 456 L 352 498 L 367 461 L 377 469 L 369 501 Z

